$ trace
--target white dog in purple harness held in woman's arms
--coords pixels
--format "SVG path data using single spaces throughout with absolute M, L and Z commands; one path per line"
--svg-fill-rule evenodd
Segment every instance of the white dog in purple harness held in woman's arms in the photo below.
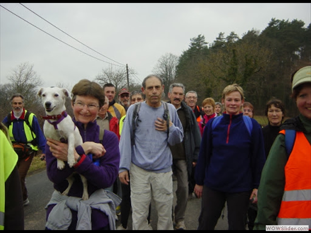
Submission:
M 71 117 L 66 113 L 65 102 L 66 98 L 71 99 L 71 93 L 66 88 L 59 87 L 41 87 L 38 91 L 38 96 L 42 100 L 47 116 L 42 116 L 46 119 L 43 125 L 43 133 L 46 137 L 52 138 L 61 142 L 68 142 L 68 164 L 72 167 L 75 164 L 74 149 L 82 145 L 82 137 L 76 128 Z M 63 169 L 65 162 L 57 159 L 57 168 Z M 82 175 L 83 196 L 82 199 L 88 199 L 87 181 Z M 68 195 L 69 189 L 73 183 L 73 174 L 68 178 L 68 188 L 62 193 Z

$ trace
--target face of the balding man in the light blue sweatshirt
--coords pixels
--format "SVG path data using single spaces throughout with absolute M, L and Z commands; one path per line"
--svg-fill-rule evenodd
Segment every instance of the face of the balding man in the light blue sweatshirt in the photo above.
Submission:
M 156 77 L 150 77 L 146 80 L 146 89 L 141 87 L 142 93 L 146 95 L 146 103 L 152 107 L 161 106 L 161 97 L 164 85 Z

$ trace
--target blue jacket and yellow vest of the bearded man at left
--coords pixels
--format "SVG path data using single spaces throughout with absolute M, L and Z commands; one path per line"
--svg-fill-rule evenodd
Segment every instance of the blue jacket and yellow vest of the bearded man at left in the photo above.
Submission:
M 26 122 L 24 121 L 26 112 L 27 110 L 23 109 L 22 115 L 17 119 L 15 118 L 13 111 L 11 111 L 12 122 L 10 126 L 7 126 L 7 127 L 8 127 L 10 134 L 12 134 L 10 135 L 12 143 L 19 142 L 19 143 L 27 144 L 27 142 L 30 142 L 33 140 L 32 131 L 29 128 L 29 126 L 26 124 Z M 34 145 L 34 147 L 32 148 L 33 150 L 38 150 L 39 148 L 40 150 L 42 150 L 42 153 L 44 153 L 45 144 L 46 144 L 45 136 L 40 128 L 38 119 L 35 116 L 35 114 L 32 113 L 31 116 L 29 116 L 29 120 L 30 120 L 29 123 L 31 124 L 34 130 L 34 134 L 36 137 L 36 143 L 37 143 L 37 145 Z M 33 119 L 32 121 L 31 121 L 31 118 Z M 4 125 L 7 125 L 7 122 L 8 122 L 8 118 L 7 116 L 5 116 L 2 123 Z

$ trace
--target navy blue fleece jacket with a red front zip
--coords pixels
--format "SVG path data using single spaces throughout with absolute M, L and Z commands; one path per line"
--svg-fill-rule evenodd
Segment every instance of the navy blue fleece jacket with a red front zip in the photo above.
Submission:
M 223 114 L 212 130 L 207 122 L 201 141 L 195 181 L 221 192 L 246 192 L 258 188 L 265 163 L 262 130 L 251 118 L 253 129 L 248 133 L 243 114 Z

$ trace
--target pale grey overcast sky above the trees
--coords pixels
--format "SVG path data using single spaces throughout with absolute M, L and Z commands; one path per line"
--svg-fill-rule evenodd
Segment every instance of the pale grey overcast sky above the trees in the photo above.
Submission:
M 44 86 L 94 80 L 109 64 L 124 69 L 128 64 L 141 83 L 162 55 L 180 56 L 199 34 L 212 43 L 221 32 L 240 38 L 252 29 L 261 32 L 272 18 L 302 20 L 305 27 L 311 20 L 311 3 L 22 4 L 31 11 L 19 3 L 0 3 L 18 16 L 0 7 L 1 83 L 25 62 L 34 65 Z

